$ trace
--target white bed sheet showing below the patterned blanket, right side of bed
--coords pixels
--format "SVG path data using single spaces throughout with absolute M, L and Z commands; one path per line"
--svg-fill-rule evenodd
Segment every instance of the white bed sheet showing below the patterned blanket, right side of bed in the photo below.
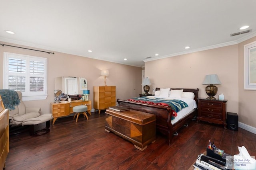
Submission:
M 154 98 L 154 96 L 147 96 L 147 98 Z M 180 119 L 194 111 L 196 109 L 196 101 L 194 99 L 190 98 L 174 98 L 176 100 L 182 100 L 183 102 L 186 102 L 188 104 L 188 107 L 183 108 L 182 110 L 178 111 L 177 116 L 175 119 L 172 120 L 172 125 L 174 125 L 176 122 L 178 122 Z

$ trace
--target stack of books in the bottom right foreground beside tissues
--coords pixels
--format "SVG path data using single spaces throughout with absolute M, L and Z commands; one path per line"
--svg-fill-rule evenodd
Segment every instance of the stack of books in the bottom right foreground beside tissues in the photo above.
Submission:
M 228 170 L 226 163 L 205 154 L 198 155 L 194 170 Z

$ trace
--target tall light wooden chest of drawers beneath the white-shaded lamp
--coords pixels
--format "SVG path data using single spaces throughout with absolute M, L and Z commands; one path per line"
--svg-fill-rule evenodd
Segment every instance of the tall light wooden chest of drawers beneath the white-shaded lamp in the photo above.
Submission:
M 100 110 L 116 106 L 116 86 L 94 86 L 93 106 L 100 114 Z

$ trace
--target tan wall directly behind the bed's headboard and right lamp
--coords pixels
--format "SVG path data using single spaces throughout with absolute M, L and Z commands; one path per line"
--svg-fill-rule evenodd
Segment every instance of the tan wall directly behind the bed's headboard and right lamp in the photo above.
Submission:
M 199 97 L 206 98 L 207 74 L 218 74 L 222 84 L 218 93 L 228 100 L 227 111 L 238 113 L 238 45 L 149 61 L 145 63 L 145 76 L 156 87 L 199 88 Z

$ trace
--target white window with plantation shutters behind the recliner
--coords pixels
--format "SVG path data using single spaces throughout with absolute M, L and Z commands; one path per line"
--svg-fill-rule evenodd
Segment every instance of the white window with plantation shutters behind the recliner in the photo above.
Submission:
M 47 58 L 4 52 L 4 89 L 22 91 L 22 100 L 47 97 Z

